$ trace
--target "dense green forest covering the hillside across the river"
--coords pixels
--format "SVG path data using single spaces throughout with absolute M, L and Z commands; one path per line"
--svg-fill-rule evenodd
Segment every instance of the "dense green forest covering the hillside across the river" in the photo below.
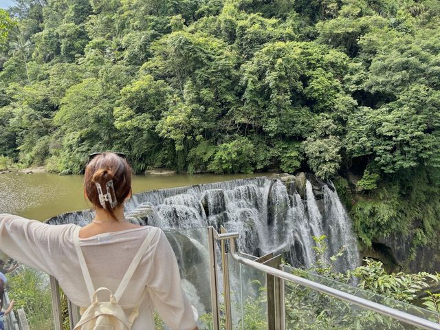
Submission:
M 438 244 L 438 0 L 18 0 L 0 47 L 3 164 L 303 170 L 366 245 Z

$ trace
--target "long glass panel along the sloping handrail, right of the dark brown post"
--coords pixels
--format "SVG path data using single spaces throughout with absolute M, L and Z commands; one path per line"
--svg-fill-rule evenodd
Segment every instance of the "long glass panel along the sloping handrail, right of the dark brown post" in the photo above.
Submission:
M 294 267 L 284 266 L 283 268 L 286 272 L 327 287 L 333 287 L 342 292 L 399 309 L 426 320 L 439 322 L 439 315 L 428 309 L 387 298 Z M 285 318 L 286 329 L 419 329 L 287 281 L 285 281 Z M 302 326 L 298 326 L 298 324 Z

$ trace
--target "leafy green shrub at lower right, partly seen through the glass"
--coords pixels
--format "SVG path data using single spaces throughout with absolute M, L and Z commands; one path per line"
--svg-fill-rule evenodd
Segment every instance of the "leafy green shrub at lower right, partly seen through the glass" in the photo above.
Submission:
M 322 256 L 327 250 L 325 236 L 314 237 L 316 241 L 316 263 L 309 270 L 292 271 L 293 274 L 308 278 L 311 281 L 318 281 L 321 284 L 329 285 L 340 289 L 334 279 L 342 283 L 353 283 L 353 278 L 358 279 L 358 287 L 340 285 L 342 291 L 362 296 L 370 300 L 379 299 L 380 303 L 386 303 L 386 298 L 412 302 L 419 294 L 430 285 L 437 285 L 440 281 L 440 274 L 428 274 L 419 272 L 417 274 L 386 274 L 383 264 L 380 261 L 365 259 L 365 265 L 355 268 L 353 271 L 340 273 L 335 270 L 333 263 L 341 256 L 341 253 L 332 256 L 330 260 L 323 261 Z M 325 277 L 322 277 L 325 276 Z M 329 278 L 329 280 L 327 280 Z M 325 330 L 325 329 L 388 329 L 404 330 L 406 327 L 393 318 L 382 316 L 366 309 L 358 309 L 350 303 L 321 294 L 296 283 L 286 282 L 285 284 L 285 313 L 286 329 L 292 330 Z M 358 289 L 365 289 L 372 292 L 359 292 Z M 375 294 L 380 294 L 377 296 Z M 386 298 L 382 298 L 382 296 Z M 439 311 L 440 295 L 432 295 L 425 298 L 425 305 L 432 311 Z M 390 302 L 392 303 L 392 302 Z M 395 308 L 406 310 L 411 305 L 401 304 Z M 412 307 L 410 307 L 412 308 Z M 426 315 L 429 313 L 427 312 Z M 430 317 L 435 314 L 430 314 Z M 437 314 L 439 318 L 440 315 Z M 439 318 L 440 320 L 440 318 Z M 433 320 L 437 322 L 438 320 Z

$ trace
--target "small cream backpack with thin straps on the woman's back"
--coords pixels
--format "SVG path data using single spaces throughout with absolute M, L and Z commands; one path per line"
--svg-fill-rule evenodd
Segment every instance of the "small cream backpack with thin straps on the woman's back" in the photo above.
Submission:
M 81 309 L 81 318 L 78 324 L 74 327 L 74 330 L 130 330 L 133 325 L 134 320 L 139 314 L 139 307 L 135 307 L 131 314 L 127 317 L 124 310 L 118 305 L 118 302 L 124 293 L 131 276 L 136 270 L 137 265 L 139 265 L 142 256 L 144 255 L 146 248 L 150 244 L 151 240 L 158 232 L 158 228 L 151 228 L 150 232 L 146 235 L 144 242 L 140 246 L 139 250 L 135 254 L 133 261 L 131 262 L 129 269 L 126 271 L 124 277 L 118 289 L 116 289 L 115 294 L 111 292 L 107 287 L 100 287 L 99 289 L 94 289 L 94 285 L 91 282 L 91 277 L 87 264 L 84 259 L 83 251 L 80 247 L 79 241 L 79 228 L 74 234 L 74 243 L 76 248 L 76 254 L 78 254 L 78 259 L 80 261 L 81 271 L 87 285 L 87 291 L 89 292 L 91 305 L 87 309 Z M 97 294 L 101 291 L 109 292 L 108 301 L 99 301 Z

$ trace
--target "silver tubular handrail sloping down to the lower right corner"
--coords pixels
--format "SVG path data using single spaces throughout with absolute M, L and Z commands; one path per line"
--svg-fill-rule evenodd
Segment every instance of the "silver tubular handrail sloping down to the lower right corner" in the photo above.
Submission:
M 242 256 L 239 256 L 239 254 L 236 251 L 236 244 L 234 237 L 238 236 L 239 234 L 237 232 L 230 232 L 228 234 L 230 234 L 230 236 L 232 237 L 232 239 L 230 239 L 230 254 L 232 255 L 232 258 L 235 261 L 243 265 L 248 265 L 249 267 L 255 268 L 256 270 L 261 270 L 262 272 L 265 272 L 267 274 L 271 274 L 278 278 L 283 278 L 286 281 L 303 285 L 303 287 L 308 287 L 315 291 L 322 292 L 323 294 L 328 294 L 329 296 L 333 296 L 340 300 L 344 300 L 354 305 L 363 307 L 365 309 L 375 311 L 384 316 L 389 316 L 390 318 L 394 318 L 395 320 L 399 320 L 408 325 L 415 325 L 416 327 L 420 327 L 422 329 L 428 329 L 428 330 L 440 330 L 439 323 L 431 322 L 430 320 L 419 318 L 419 316 L 414 316 L 405 313 L 404 311 L 399 311 L 398 309 L 393 309 L 391 307 L 381 305 L 379 303 L 375 303 L 371 300 L 366 300 L 358 296 L 353 296 L 353 294 L 347 294 L 347 292 L 342 292 L 338 289 L 333 289 L 333 287 L 327 287 L 327 285 L 322 285 L 320 283 L 307 280 L 306 278 L 302 278 L 294 274 L 283 272 L 282 270 L 278 270 L 276 268 L 263 265 L 262 263 L 257 263 L 256 261 L 245 259 Z

